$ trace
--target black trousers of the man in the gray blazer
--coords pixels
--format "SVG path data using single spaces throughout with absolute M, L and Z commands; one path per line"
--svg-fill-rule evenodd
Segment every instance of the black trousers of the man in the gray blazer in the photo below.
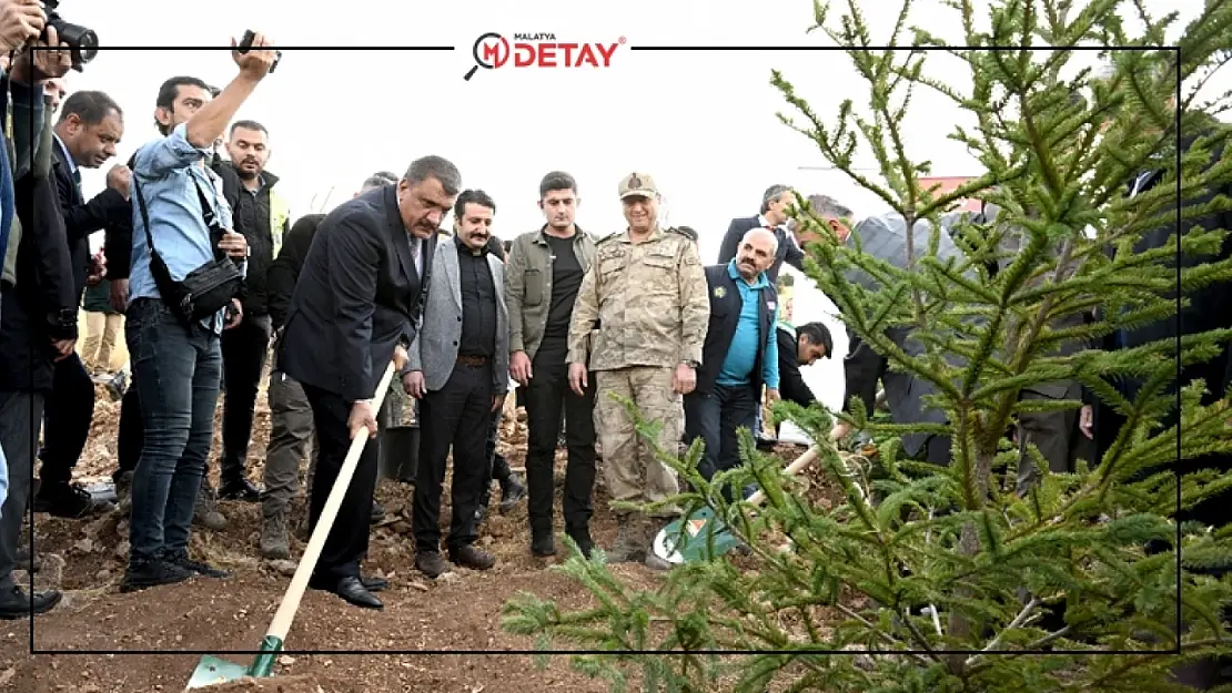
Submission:
M 460 549 L 478 539 L 474 511 L 485 485 L 492 484 L 488 431 L 492 426 L 492 363 L 457 363 L 445 387 L 420 403 L 419 470 L 415 478 L 411 528 L 416 551 L 439 551 L 441 545 L 441 484 L 446 457 L 453 449 L 450 487 L 452 519 L 446 544 Z

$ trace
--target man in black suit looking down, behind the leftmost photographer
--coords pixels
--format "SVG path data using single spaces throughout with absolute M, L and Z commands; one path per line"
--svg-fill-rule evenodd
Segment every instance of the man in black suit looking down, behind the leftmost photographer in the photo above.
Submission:
M 124 134 L 123 112 L 101 91 L 78 91 L 64 101 L 55 123 L 52 177 L 64 219 L 73 262 L 73 295 L 80 300 L 90 270 L 90 235 L 108 224 L 129 223 L 127 166 L 107 174 L 107 187 L 90 201 L 81 194 L 81 169 L 96 169 L 116 155 Z M 81 517 L 94 503 L 90 494 L 73 486 L 73 468 L 85 449 L 94 419 L 94 380 L 76 353 L 55 362 L 47 398 L 44 446 L 39 453 L 39 487 L 34 512 Z

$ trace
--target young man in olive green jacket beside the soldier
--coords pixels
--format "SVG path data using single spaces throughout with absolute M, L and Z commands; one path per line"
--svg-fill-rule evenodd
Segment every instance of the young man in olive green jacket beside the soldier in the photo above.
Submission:
M 540 182 L 540 209 L 547 223 L 517 236 L 505 266 L 509 308 L 509 373 L 526 389 L 527 516 L 531 553 L 556 553 L 552 539 L 552 490 L 561 410 L 564 409 L 569 462 L 563 515 L 565 533 L 589 555 L 591 490 L 595 483 L 594 379 L 584 395 L 569 388 L 568 340 L 573 302 L 590 268 L 595 239 L 575 223 L 578 183 L 563 171 Z

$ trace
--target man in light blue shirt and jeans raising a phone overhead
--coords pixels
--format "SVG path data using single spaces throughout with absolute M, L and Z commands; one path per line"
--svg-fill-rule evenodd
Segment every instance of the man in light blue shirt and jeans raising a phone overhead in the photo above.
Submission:
M 234 261 L 246 257 L 248 242 L 230 230 L 222 182 L 206 160 L 270 71 L 276 53 L 269 46 L 255 34 L 250 49 L 233 50 L 239 74 L 217 97 L 200 80 L 179 80 L 172 107 L 154 113 L 166 137 L 133 158 L 126 336 L 144 442 L 133 474 L 123 592 L 227 576 L 188 559 L 188 533 L 213 438 L 221 335 L 243 319 Z

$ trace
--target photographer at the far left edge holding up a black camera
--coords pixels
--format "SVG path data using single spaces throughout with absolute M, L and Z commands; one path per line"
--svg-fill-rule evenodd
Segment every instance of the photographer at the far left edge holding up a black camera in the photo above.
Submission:
M 12 571 L 43 399 L 52 389 L 54 362 L 71 355 L 76 342 L 73 272 L 64 223 L 57 214 L 52 123 L 42 87 L 64 75 L 71 62 L 55 28 L 44 28 L 41 18 L 37 6 L 0 0 L 0 49 L 5 57 L 20 50 L 0 80 L 5 101 L 0 113 L 9 114 L 0 146 L 0 225 L 7 233 L 0 274 L 0 447 L 12 465 L 0 508 L 0 618 L 5 619 L 44 613 L 60 601 L 57 591 L 27 596 Z M 39 50 L 28 49 L 32 41 Z

